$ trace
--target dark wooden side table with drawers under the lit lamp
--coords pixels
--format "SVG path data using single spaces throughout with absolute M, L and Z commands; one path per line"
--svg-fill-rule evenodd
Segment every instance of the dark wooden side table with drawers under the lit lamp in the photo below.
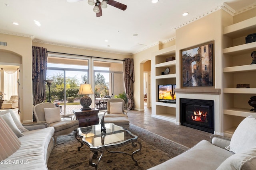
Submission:
M 92 108 L 91 110 L 73 110 L 74 115 L 76 115 L 76 120 L 79 121 L 79 127 L 87 127 L 91 125 L 99 124 L 99 109 Z

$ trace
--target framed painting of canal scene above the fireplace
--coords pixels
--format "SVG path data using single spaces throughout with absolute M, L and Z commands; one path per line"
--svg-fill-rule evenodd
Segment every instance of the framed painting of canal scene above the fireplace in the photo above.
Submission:
M 182 51 L 183 87 L 212 86 L 212 44 Z

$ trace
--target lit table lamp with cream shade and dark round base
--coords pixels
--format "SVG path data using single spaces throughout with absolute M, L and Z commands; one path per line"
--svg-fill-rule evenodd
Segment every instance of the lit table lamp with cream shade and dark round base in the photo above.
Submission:
M 80 84 L 78 95 L 83 95 L 83 94 L 86 94 L 86 95 L 93 94 L 91 84 L 86 84 L 86 83 Z M 80 99 L 80 105 L 83 106 L 81 110 L 91 110 L 91 108 L 89 107 L 91 104 L 92 104 L 92 99 L 89 96 L 83 96 Z

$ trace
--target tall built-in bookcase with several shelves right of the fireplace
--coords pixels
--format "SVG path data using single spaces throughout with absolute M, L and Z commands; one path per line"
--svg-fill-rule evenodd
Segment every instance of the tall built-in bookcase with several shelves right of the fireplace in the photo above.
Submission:
M 224 95 L 222 96 L 222 105 L 224 115 L 222 124 L 224 135 L 227 137 L 232 137 L 236 127 L 244 117 L 250 115 L 256 117 L 256 112 L 250 111 L 250 107 L 246 108 L 248 105 L 244 105 L 248 101 L 248 96 L 251 94 L 253 96 L 256 95 L 256 84 L 254 81 L 256 64 L 250 64 L 250 60 L 244 62 L 244 56 L 250 56 L 250 53 L 256 49 L 256 42 L 246 43 L 245 37 L 255 32 L 256 17 L 223 28 L 224 62 L 222 69 L 224 78 L 222 79 L 222 85 L 224 88 L 222 88 L 222 91 Z M 229 88 L 240 82 L 250 83 L 251 88 Z M 237 102 L 238 97 L 239 100 L 244 102 Z

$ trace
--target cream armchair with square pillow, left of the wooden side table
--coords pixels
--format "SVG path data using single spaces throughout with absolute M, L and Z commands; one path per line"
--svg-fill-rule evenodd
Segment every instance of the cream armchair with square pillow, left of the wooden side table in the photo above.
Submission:
M 54 146 L 57 145 L 57 137 L 68 135 L 74 129 L 78 128 L 78 120 L 62 120 L 60 117 L 60 108 L 53 103 L 40 103 L 33 107 L 36 121 L 45 122 L 54 127 Z

